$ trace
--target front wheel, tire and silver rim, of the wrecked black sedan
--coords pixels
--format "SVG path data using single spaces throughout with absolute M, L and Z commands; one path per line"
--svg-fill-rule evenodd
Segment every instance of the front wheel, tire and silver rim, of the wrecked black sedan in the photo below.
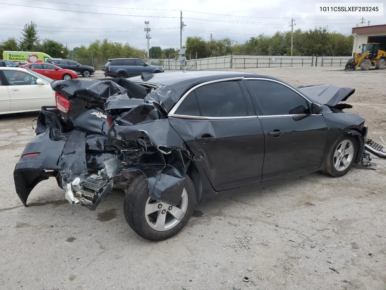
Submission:
M 354 165 L 358 147 L 354 136 L 339 138 L 328 153 L 324 172 L 332 177 L 344 176 Z

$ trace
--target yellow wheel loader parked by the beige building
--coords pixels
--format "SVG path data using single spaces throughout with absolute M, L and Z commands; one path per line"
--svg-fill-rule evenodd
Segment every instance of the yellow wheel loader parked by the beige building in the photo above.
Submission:
M 361 67 L 361 70 L 369 70 L 370 67 L 375 67 L 378 70 L 386 68 L 386 52 L 379 50 L 379 43 L 362 44 L 362 52 L 354 53 L 354 58 L 351 58 L 346 63 L 345 70 L 355 70 Z

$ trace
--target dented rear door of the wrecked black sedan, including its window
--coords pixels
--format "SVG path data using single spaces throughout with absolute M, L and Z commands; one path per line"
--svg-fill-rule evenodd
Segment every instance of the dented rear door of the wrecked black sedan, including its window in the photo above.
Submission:
M 171 109 L 169 122 L 216 191 L 261 182 L 264 134 L 244 82 L 193 87 Z

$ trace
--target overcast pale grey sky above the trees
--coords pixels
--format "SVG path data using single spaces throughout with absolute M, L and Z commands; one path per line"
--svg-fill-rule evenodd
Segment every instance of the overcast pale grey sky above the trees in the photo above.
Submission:
M 355 1 L 340 0 L 340 2 Z M 33 21 L 38 26 L 40 39 L 50 38 L 60 41 L 67 44 L 69 49 L 81 44 L 87 46 L 95 39 L 104 38 L 127 42 L 137 48 L 146 48 L 145 20 L 149 20 L 151 27 L 150 46 L 179 48 L 179 10 L 183 11 L 183 22 L 186 24 L 183 31 L 183 45 L 186 36 L 201 36 L 209 40 L 210 33 L 215 39 L 229 37 L 242 43 L 261 33 L 271 35 L 278 30 L 289 30 L 288 25 L 292 17 L 296 19 L 294 29 L 306 30 L 328 25 L 328 29 L 345 35 L 349 35 L 351 27 L 360 22 L 360 16 L 315 16 L 315 3 L 334 2 L 328 0 L 0 0 L 0 2 L 2 11 L 0 40 L 9 37 L 19 39 L 24 24 Z M 359 3 L 369 2 L 385 3 L 385 0 L 362 0 Z M 385 4 L 384 6 L 386 7 Z M 364 16 L 364 18 L 366 22 L 371 21 L 370 25 L 386 24 L 385 16 Z

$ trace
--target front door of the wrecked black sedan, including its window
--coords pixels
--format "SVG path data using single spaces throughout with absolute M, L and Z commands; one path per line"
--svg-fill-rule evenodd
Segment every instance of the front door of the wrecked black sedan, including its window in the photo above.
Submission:
M 290 86 L 271 79 L 246 79 L 265 136 L 263 181 L 318 169 L 327 143 L 322 114 Z M 257 97 L 257 99 L 254 99 Z

